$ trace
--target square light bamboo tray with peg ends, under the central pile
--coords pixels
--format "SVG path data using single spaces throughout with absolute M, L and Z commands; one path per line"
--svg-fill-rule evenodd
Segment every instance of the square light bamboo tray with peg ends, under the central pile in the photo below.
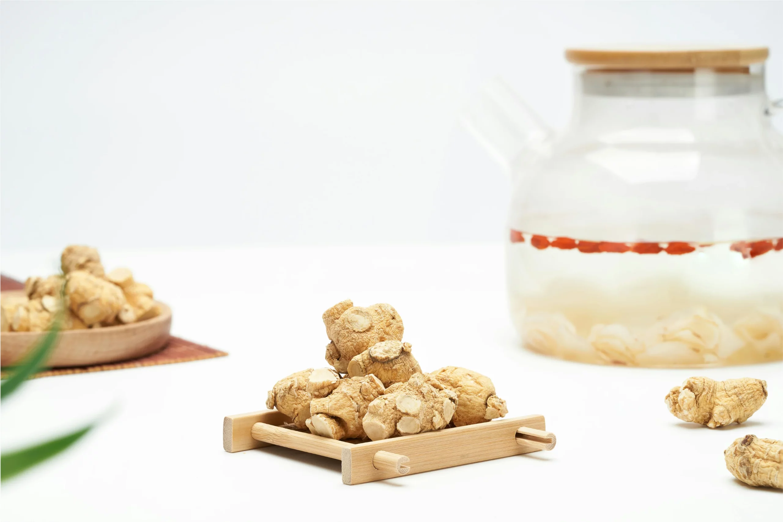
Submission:
M 496 419 L 489 423 L 391 437 L 383 441 L 334 441 L 286 425 L 276 410 L 223 419 L 223 449 L 229 453 L 269 445 L 323 455 L 342 462 L 343 484 L 381 481 L 451 466 L 500 459 L 554 448 L 541 415 Z

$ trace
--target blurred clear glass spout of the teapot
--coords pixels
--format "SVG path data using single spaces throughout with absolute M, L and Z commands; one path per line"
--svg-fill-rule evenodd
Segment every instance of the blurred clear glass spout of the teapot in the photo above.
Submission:
M 505 81 L 495 78 L 464 110 L 461 123 L 508 171 L 547 150 L 552 131 Z

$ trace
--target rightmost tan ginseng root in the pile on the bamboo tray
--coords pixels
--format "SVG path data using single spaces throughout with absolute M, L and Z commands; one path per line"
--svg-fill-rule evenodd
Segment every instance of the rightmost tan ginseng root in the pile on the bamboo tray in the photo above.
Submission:
M 429 375 L 447 390 L 456 393 L 459 399 L 452 419 L 454 426 L 485 423 L 508 413 L 506 401 L 495 394 L 492 380 L 481 373 L 458 366 L 446 366 Z

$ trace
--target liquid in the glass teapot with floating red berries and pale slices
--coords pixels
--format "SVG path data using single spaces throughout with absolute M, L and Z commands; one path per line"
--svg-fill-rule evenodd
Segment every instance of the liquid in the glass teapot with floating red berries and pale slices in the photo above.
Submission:
M 783 238 L 608 243 L 511 232 L 511 317 L 546 355 L 617 365 L 781 359 Z

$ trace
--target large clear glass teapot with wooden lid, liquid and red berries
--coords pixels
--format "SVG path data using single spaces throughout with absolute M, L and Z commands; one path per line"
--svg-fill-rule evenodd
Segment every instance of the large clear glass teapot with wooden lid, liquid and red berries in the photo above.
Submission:
M 507 285 L 526 347 L 652 367 L 783 359 L 767 54 L 569 49 L 576 100 L 561 134 L 501 81 L 466 111 L 512 174 Z

